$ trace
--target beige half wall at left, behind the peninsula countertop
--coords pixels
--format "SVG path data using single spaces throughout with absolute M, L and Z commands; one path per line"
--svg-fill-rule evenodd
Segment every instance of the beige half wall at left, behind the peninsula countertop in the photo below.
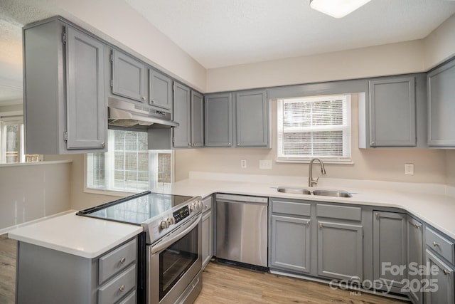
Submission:
M 70 209 L 71 164 L 0 165 L 0 230 Z

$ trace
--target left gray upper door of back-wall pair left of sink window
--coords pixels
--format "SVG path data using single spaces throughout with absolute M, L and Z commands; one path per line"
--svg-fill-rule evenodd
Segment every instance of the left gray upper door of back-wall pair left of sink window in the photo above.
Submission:
M 232 95 L 205 95 L 205 146 L 232 146 Z

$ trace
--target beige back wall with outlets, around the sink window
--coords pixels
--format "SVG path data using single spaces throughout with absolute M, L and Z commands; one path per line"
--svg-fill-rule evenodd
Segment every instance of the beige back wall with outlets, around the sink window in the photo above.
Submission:
M 190 171 L 270 174 L 308 177 L 308 164 L 274 162 L 277 157 L 277 103 L 272 101 L 272 149 L 220 148 L 177 150 L 176 180 Z M 326 164 L 330 178 L 375 179 L 394 182 L 445 183 L 445 151 L 416 149 L 358 149 L 358 102 L 352 99 L 352 158 L 354 164 Z M 247 159 L 247 169 L 240 168 Z M 272 169 L 259 169 L 260 159 L 272 159 Z M 414 175 L 405 175 L 405 163 L 414 164 Z

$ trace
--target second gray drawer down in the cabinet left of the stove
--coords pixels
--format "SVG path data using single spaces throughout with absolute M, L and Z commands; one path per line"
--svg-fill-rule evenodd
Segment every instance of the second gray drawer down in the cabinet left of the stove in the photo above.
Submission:
M 117 278 L 98 290 L 98 303 L 112 304 L 136 287 L 136 265 L 132 265 Z

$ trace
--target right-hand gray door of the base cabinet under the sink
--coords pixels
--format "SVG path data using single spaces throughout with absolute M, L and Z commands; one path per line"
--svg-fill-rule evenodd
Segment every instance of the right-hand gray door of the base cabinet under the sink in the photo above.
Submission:
M 318 221 L 318 275 L 363 280 L 362 226 Z

